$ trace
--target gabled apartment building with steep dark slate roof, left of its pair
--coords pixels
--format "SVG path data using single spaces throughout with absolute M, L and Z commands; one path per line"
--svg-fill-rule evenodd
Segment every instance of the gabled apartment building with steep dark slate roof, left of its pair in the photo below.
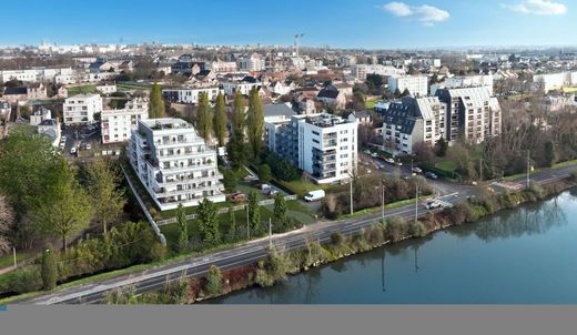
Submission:
M 383 143 L 394 155 L 413 154 L 417 143 L 434 145 L 447 136 L 447 105 L 437 97 L 405 97 L 383 112 Z

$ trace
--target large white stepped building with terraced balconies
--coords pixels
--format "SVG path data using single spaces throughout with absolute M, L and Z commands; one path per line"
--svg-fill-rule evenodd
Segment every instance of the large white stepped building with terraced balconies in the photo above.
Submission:
M 181 119 L 140 120 L 126 150 L 140 181 L 161 211 L 224 202 L 215 148 Z

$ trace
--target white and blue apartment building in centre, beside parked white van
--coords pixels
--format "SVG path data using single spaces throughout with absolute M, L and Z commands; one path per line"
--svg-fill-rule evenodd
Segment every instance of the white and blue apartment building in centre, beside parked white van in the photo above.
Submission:
M 357 126 L 328 113 L 265 120 L 265 143 L 318 184 L 344 182 L 357 169 Z

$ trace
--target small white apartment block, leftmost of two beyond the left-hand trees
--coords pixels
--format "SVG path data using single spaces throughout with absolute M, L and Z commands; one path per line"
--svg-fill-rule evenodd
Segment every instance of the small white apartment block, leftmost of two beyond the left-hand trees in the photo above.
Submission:
M 100 94 L 79 94 L 64 100 L 64 124 L 78 125 L 94 122 L 94 114 L 102 112 Z

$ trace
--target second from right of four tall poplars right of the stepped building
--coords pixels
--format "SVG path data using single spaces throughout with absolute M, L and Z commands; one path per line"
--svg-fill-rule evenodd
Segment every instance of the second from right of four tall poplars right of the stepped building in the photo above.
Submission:
M 249 154 L 244 141 L 245 118 L 244 98 L 236 91 L 231 115 L 232 136 L 226 144 L 226 156 L 235 171 L 239 171 L 246 163 Z

